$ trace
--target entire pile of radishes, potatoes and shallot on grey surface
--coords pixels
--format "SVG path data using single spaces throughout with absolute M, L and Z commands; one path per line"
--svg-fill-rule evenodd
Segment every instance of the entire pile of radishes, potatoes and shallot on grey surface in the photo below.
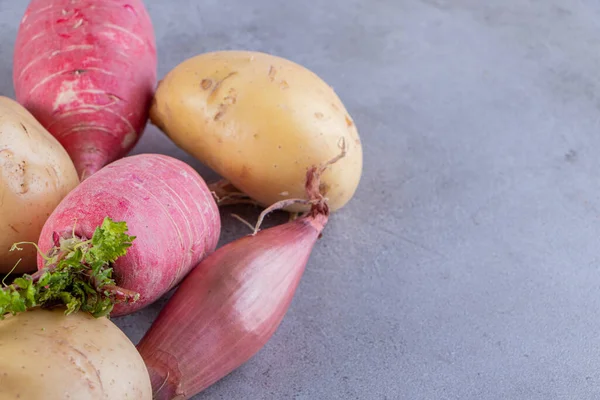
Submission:
M 198 54 L 157 83 L 140 0 L 31 0 L 13 61 L 15 99 L 0 97 L 0 400 L 184 400 L 235 371 L 276 332 L 356 193 L 349 110 L 306 67 L 253 51 Z M 130 155 L 148 120 L 219 179 Z M 218 247 L 233 204 L 258 206 L 258 222 Z M 277 210 L 290 221 L 261 229 Z M 111 322 L 172 289 L 137 345 Z

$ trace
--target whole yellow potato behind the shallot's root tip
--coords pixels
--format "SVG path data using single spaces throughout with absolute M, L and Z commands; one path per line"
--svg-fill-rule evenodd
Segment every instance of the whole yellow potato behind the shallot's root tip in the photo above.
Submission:
M 305 198 L 307 169 L 340 154 L 341 138 L 347 155 L 322 177 L 330 209 L 344 206 L 360 181 L 361 142 L 341 100 L 316 74 L 280 57 L 219 51 L 185 60 L 159 83 L 150 119 L 265 206 Z

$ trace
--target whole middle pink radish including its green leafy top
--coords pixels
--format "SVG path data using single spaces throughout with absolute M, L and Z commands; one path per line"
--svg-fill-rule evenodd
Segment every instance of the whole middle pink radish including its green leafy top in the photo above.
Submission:
M 212 253 L 220 229 L 217 204 L 189 165 L 159 154 L 124 157 L 84 180 L 54 209 L 37 243 L 39 270 L 0 288 L 0 317 L 3 294 L 12 307 L 5 314 L 43 305 L 38 297 L 65 303 L 69 311 L 91 302 L 88 311 L 95 315 L 133 313 Z M 45 291 L 53 279 L 56 288 Z

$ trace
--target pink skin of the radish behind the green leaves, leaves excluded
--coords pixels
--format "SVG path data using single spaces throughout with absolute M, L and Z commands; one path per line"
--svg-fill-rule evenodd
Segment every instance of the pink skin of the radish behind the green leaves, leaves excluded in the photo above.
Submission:
M 135 236 L 113 265 L 116 284 L 140 295 L 116 304 L 111 315 L 132 313 L 177 285 L 219 239 L 221 220 L 204 180 L 186 163 L 143 154 L 117 160 L 83 181 L 44 225 L 38 246 L 48 254 L 58 237 L 92 238 L 103 219 L 127 223 Z M 44 268 L 38 257 L 38 269 Z

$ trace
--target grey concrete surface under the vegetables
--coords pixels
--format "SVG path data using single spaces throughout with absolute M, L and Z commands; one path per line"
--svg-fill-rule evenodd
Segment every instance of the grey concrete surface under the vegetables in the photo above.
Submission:
M 288 57 L 365 150 L 276 335 L 198 399 L 600 398 L 598 1 L 147 5 L 159 75 L 211 50 Z M 3 95 L 24 8 L 0 0 Z M 214 178 L 154 127 L 135 152 Z M 246 233 L 230 211 L 222 242 Z M 161 304 L 118 323 L 137 341 Z

